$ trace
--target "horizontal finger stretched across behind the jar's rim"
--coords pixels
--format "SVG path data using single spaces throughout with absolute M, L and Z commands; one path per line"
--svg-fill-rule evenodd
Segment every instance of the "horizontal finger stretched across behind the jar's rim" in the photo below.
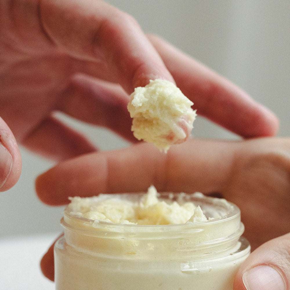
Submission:
M 50 205 L 67 204 L 75 195 L 147 191 L 152 184 L 159 191 L 222 192 L 236 147 L 237 142 L 192 139 L 167 154 L 144 143 L 92 153 L 40 175 L 36 191 Z

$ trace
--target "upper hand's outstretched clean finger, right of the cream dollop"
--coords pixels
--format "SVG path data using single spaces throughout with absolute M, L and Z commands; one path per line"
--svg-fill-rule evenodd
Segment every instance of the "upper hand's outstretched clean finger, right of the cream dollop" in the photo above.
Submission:
M 274 136 L 278 119 L 240 88 L 184 55 L 160 38 L 149 35 L 177 86 L 194 102 L 197 114 L 243 137 Z

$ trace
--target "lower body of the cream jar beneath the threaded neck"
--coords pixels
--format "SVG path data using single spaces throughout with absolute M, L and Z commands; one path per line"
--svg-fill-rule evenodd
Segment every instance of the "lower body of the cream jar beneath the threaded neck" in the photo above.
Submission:
M 194 270 L 182 271 L 172 261 L 138 261 L 120 267 L 117 261 L 94 262 L 57 249 L 56 290 L 233 290 L 235 274 L 245 258 L 244 255 L 234 256 L 232 261 L 193 263 Z

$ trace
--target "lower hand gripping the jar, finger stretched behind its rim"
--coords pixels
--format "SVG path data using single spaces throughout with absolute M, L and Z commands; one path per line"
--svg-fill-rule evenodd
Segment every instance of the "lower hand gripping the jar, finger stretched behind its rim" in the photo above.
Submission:
M 37 178 L 36 190 L 50 205 L 66 204 L 68 195 L 147 191 L 151 184 L 158 191 L 218 193 L 240 207 L 244 236 L 256 249 L 240 267 L 234 290 L 245 290 L 244 273 L 245 282 L 247 277 L 260 283 L 249 282 L 248 290 L 259 290 L 268 289 L 261 285 L 275 278 L 275 270 L 290 283 L 289 176 L 290 139 L 190 139 L 167 154 L 142 143 L 61 162 Z M 52 248 L 41 268 L 53 280 Z M 255 276 L 249 269 L 260 272 Z M 287 289 L 271 283 L 272 289 Z

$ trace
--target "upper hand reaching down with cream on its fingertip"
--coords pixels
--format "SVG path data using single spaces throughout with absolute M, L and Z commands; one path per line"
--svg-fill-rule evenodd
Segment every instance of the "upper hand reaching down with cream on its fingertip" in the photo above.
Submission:
M 243 137 L 278 129 L 276 117 L 242 90 L 158 37 L 146 37 L 131 16 L 103 1 L 3 0 L 0 23 L 0 191 L 21 170 L 13 134 L 55 161 L 97 150 L 56 111 L 136 142 L 128 94 L 149 79 L 174 78 L 200 115 Z

